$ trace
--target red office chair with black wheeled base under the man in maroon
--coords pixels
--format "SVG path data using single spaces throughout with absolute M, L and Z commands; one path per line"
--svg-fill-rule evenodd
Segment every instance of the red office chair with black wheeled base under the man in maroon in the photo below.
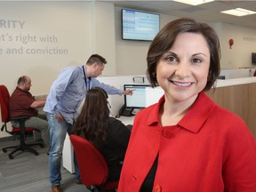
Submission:
M 39 145 L 41 148 L 44 148 L 44 144 L 42 142 L 31 143 L 31 144 L 25 143 L 26 135 L 32 134 L 37 130 L 33 127 L 25 127 L 25 120 L 28 118 L 28 116 L 17 116 L 14 118 L 10 118 L 9 100 L 10 100 L 10 94 L 7 88 L 4 85 L 0 85 L 0 108 L 1 108 L 1 116 L 2 116 L 2 124 L 3 124 L 1 131 L 3 132 L 5 130 L 5 132 L 8 132 L 14 137 L 16 137 L 17 135 L 20 136 L 20 145 L 3 148 L 4 153 L 7 152 L 7 149 L 14 148 L 11 151 L 11 153 L 9 153 L 8 155 L 10 159 L 14 158 L 13 154 L 16 153 L 17 151 L 28 151 L 38 156 L 39 155 L 38 152 L 35 149 L 30 148 L 30 146 Z M 12 131 L 9 131 L 7 129 L 7 123 L 10 122 L 11 120 L 19 121 L 20 128 L 12 127 Z

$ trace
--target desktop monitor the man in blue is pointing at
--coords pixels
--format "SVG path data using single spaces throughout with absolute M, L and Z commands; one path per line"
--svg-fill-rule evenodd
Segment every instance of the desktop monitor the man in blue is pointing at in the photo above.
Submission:
M 124 84 L 125 90 L 133 90 L 132 95 L 124 95 L 126 108 L 146 108 L 146 88 L 149 84 Z

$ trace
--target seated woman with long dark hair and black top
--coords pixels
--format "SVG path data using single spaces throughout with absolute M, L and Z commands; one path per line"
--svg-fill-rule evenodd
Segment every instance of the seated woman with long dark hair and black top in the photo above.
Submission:
M 90 140 L 105 157 L 108 181 L 119 180 L 124 154 L 131 131 L 119 120 L 109 116 L 108 94 L 103 89 L 92 88 L 86 94 L 81 114 L 72 133 Z

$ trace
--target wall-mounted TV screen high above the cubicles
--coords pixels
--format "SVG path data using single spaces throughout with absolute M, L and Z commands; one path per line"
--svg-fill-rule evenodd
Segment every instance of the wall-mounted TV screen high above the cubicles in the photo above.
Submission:
M 122 9 L 122 38 L 152 41 L 160 28 L 160 15 Z

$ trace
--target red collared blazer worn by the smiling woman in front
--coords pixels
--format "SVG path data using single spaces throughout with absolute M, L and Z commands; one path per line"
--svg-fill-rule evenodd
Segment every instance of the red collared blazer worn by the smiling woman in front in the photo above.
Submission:
M 136 116 L 118 192 L 140 191 L 157 154 L 153 191 L 256 191 L 256 143 L 239 116 L 201 92 L 178 124 L 162 127 L 163 102 Z

